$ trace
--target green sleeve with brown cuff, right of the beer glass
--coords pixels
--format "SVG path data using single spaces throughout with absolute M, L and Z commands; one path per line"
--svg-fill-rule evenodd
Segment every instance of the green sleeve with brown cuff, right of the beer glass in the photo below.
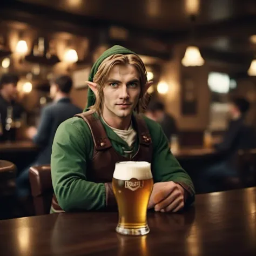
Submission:
M 178 183 L 188 192 L 186 203 L 191 204 L 195 193 L 193 182 L 171 153 L 168 140 L 161 127 L 158 127 L 156 134 L 155 142 L 153 142 L 152 163 L 154 182 L 173 181 Z

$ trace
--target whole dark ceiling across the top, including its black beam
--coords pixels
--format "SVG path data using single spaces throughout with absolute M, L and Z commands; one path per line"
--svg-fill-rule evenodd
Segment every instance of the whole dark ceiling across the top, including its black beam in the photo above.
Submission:
M 174 44 L 188 43 L 191 39 L 191 21 L 185 3 L 185 0 L 6 0 L 0 4 L 0 21 L 11 19 L 44 30 L 76 33 L 96 44 L 111 41 L 105 31 L 116 25 L 129 31 L 125 46 L 141 54 L 168 59 Z M 237 64 L 241 72 L 246 72 L 256 50 L 249 40 L 256 34 L 255 0 L 201 0 L 194 28 L 194 42 L 204 58 Z M 151 48 L 146 50 L 145 45 Z

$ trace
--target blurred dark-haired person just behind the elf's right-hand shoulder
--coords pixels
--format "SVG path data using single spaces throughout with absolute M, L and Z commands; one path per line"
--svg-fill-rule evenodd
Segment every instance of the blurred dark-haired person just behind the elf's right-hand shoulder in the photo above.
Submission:
M 150 102 L 147 106 L 146 116 L 160 124 L 167 139 L 171 140 L 172 135 L 177 134 L 178 129 L 175 119 L 169 113 L 166 113 L 163 103 Z

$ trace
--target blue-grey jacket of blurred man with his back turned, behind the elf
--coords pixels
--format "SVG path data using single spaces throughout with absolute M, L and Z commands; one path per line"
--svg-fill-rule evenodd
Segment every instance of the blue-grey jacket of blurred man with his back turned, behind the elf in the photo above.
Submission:
M 69 98 L 62 98 L 42 109 L 37 134 L 33 138 L 33 142 L 41 147 L 41 152 L 36 160 L 38 165 L 50 164 L 52 142 L 58 126 L 66 119 L 81 112 L 82 109 L 73 105 Z

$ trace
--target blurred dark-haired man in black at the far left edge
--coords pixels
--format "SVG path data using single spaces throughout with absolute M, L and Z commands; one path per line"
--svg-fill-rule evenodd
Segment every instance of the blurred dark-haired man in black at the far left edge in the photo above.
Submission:
M 18 80 L 19 77 L 12 73 L 6 73 L 0 78 L 0 141 L 15 139 L 10 138 L 9 132 L 5 129 L 8 108 L 11 107 L 14 120 L 21 118 L 24 111 L 22 105 L 16 102 Z

